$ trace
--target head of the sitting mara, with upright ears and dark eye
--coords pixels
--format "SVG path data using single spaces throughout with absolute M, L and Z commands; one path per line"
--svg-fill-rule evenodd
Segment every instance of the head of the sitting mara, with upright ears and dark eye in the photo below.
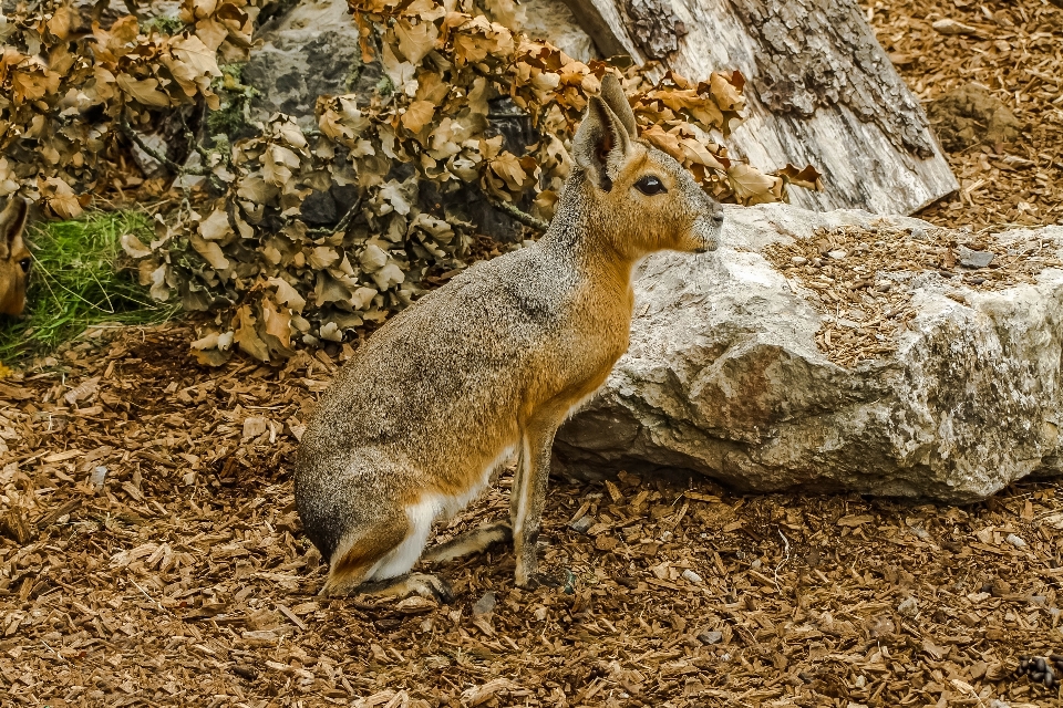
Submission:
M 572 138 L 586 179 L 581 208 L 623 256 L 703 253 L 719 244 L 723 208 L 672 156 L 638 137 L 620 82 L 606 74 Z

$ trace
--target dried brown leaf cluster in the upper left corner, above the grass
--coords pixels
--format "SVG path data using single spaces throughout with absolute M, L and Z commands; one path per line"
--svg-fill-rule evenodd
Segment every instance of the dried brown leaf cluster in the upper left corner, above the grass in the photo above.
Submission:
M 20 191 L 60 218 L 93 191 L 135 186 L 122 136 L 187 106 L 218 106 L 223 62 L 245 59 L 257 9 L 247 0 L 182 0 L 183 30 L 101 25 L 70 3 L 20 3 L 0 24 L 0 197 Z M 128 139 L 127 137 L 125 138 Z

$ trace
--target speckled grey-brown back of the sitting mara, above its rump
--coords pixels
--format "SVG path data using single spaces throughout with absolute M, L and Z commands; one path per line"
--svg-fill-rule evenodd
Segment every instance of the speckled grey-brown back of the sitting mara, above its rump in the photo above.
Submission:
M 441 434 L 452 424 L 475 425 L 499 407 L 515 414 L 527 383 L 514 374 L 556 330 L 577 287 L 570 269 L 533 251 L 541 249 L 477 263 L 370 336 L 322 397 L 310 446 L 342 454 L 332 445 L 342 439 L 423 451 L 447 441 Z M 553 292 L 543 292 L 544 280 Z

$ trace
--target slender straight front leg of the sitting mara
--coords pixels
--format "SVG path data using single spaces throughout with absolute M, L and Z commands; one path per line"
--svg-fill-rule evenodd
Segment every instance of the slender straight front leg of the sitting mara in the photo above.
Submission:
M 543 527 L 543 504 L 550 476 L 550 449 L 557 426 L 555 416 L 544 416 L 530 420 L 522 430 L 517 472 L 509 497 L 513 550 L 517 558 L 516 583 L 519 587 L 535 584 L 538 570 L 536 543 Z

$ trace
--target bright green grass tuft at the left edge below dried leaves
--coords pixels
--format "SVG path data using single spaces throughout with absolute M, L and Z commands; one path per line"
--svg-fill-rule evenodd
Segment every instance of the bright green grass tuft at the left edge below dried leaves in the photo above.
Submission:
M 134 272 L 116 268 L 123 233 L 151 242 L 151 219 L 140 211 L 96 211 L 30 229 L 25 313 L 0 323 L 0 361 L 47 353 L 93 324 L 146 324 L 175 314 L 178 308 L 153 301 Z

